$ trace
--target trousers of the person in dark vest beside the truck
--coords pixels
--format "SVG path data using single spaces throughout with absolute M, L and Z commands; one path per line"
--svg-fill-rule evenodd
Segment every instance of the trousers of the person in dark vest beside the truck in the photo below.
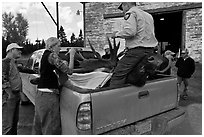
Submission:
M 37 91 L 32 134 L 61 135 L 59 103 L 59 94 Z

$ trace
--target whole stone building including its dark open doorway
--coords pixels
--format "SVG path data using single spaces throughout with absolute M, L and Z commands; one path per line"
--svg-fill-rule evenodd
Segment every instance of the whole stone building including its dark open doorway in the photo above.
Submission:
M 85 37 L 96 49 L 107 44 L 106 34 L 121 29 L 123 13 L 119 2 L 84 3 Z M 199 2 L 137 2 L 139 8 L 153 15 L 159 52 L 178 52 L 188 48 L 195 61 L 202 62 L 202 3 Z M 121 47 L 124 41 L 120 39 Z M 89 43 L 86 42 L 86 46 Z

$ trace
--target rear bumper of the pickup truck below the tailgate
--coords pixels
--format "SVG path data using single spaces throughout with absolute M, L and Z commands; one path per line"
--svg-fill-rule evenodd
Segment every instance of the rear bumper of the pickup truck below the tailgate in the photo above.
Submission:
M 168 112 L 141 120 L 124 127 L 103 133 L 105 135 L 162 135 L 170 131 L 172 127 L 180 124 L 185 118 L 182 108 L 175 108 Z

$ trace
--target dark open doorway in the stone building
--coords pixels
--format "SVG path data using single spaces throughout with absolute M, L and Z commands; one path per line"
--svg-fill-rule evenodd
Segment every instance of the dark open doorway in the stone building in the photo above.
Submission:
M 172 13 L 153 14 L 155 35 L 159 42 L 158 52 L 163 54 L 166 50 L 175 53 L 182 45 L 182 11 Z

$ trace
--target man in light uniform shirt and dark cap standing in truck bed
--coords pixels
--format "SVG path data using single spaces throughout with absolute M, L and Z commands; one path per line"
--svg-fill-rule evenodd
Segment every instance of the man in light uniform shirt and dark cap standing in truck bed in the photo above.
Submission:
M 124 27 L 120 32 L 113 32 L 111 37 L 125 39 L 127 52 L 119 60 L 110 86 L 124 84 L 128 73 L 158 44 L 154 34 L 154 20 L 149 13 L 138 9 L 136 2 L 122 2 L 118 9 L 125 13 Z

